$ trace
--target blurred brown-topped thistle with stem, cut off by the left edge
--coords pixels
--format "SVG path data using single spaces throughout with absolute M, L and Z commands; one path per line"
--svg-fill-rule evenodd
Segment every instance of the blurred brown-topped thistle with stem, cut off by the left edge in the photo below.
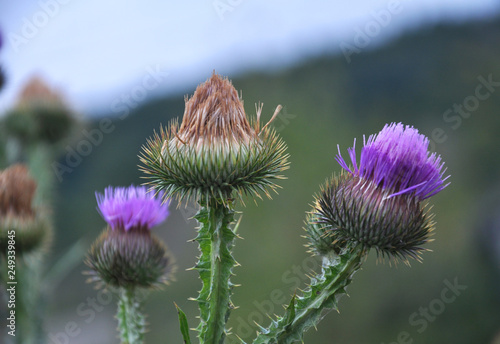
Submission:
M 17 293 L 15 314 L 22 331 L 16 343 L 39 343 L 43 332 L 40 307 L 40 260 L 52 237 L 46 211 L 33 204 L 37 183 L 26 166 L 0 171 L 0 280 Z

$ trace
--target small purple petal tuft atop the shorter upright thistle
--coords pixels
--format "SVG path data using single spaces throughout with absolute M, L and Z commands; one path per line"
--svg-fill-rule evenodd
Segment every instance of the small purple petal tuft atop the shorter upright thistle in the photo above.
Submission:
M 148 193 L 144 186 L 107 187 L 96 192 L 98 211 L 112 229 L 150 229 L 168 216 L 162 195 Z

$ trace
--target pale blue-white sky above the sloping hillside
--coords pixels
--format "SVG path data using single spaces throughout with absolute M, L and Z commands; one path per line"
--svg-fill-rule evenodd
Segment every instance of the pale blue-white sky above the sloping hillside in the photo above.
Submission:
M 348 63 L 405 30 L 499 8 L 496 0 L 0 0 L 8 76 L 0 111 L 33 75 L 79 112 L 119 113 L 123 96 L 184 93 L 212 70 L 231 77 L 354 48 Z

